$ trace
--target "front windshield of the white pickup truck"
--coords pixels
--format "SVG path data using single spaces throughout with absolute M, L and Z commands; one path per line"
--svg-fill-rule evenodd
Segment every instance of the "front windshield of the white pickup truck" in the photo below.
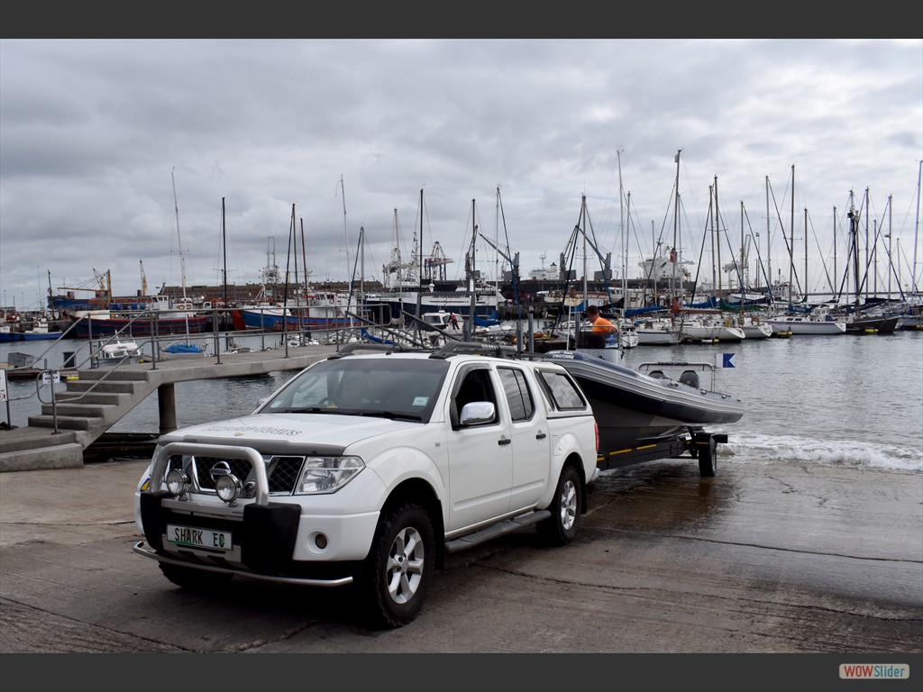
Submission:
M 426 423 L 448 371 L 445 361 L 430 359 L 320 361 L 294 376 L 258 412 L 379 414 Z

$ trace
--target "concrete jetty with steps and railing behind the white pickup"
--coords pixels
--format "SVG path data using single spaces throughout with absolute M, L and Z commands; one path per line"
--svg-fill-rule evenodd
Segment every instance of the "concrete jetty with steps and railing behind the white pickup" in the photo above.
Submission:
M 333 344 L 309 344 L 80 369 L 76 379 L 67 378 L 64 391 L 55 391 L 54 406 L 43 403 L 42 414 L 31 416 L 28 425 L 0 430 L 0 472 L 81 467 L 84 450 L 155 391 L 161 432 L 173 430 L 177 382 L 297 371 L 336 350 Z

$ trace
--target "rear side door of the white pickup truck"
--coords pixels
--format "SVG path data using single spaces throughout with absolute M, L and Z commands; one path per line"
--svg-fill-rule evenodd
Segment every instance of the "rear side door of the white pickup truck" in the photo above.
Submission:
M 513 478 L 510 509 L 531 507 L 548 485 L 551 435 L 538 392 L 519 367 L 501 366 L 497 375 L 509 409 L 513 443 Z

